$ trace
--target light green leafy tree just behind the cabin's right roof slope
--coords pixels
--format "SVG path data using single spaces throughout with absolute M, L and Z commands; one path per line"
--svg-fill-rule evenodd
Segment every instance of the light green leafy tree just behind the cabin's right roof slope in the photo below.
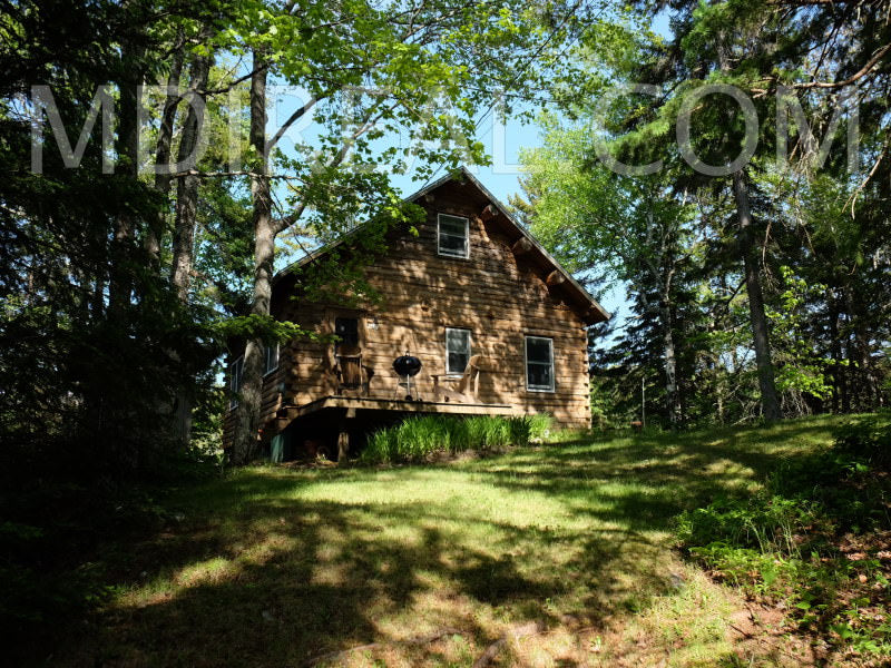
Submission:
M 636 327 L 652 322 L 660 342 L 665 414 L 677 426 L 683 416 L 675 318 L 678 301 L 686 298 L 683 272 L 697 252 L 692 205 L 670 191 L 667 174 L 635 178 L 599 164 L 587 124 L 562 129 L 551 118 L 546 127 L 545 147 L 522 154 L 531 229 L 589 283 L 628 285 L 644 318 Z

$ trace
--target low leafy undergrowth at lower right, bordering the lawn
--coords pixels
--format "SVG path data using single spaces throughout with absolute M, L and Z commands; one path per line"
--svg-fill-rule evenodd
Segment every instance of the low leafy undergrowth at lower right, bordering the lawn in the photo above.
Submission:
M 782 603 L 800 630 L 891 655 L 891 421 L 851 421 L 747 498 L 684 512 L 678 536 L 714 576 Z

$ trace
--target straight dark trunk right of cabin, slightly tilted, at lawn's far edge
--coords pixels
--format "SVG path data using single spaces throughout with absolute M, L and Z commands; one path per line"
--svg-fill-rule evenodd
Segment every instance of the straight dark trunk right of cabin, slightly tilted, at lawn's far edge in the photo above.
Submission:
M 782 418 L 780 401 L 776 395 L 771 344 L 767 334 L 767 317 L 764 314 L 764 294 L 761 288 L 757 257 L 754 254 L 752 234 L 752 209 L 748 204 L 748 188 L 742 170 L 733 175 L 733 195 L 736 200 L 736 214 L 740 218 L 737 244 L 743 256 L 745 286 L 748 292 L 748 316 L 752 323 L 752 335 L 755 346 L 755 364 L 761 389 L 761 411 L 767 420 Z

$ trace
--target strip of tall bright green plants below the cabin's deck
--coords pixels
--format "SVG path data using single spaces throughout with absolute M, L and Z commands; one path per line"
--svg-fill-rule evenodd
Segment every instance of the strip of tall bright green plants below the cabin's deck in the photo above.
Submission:
M 360 459 L 368 463 L 417 462 L 441 452 L 525 446 L 544 438 L 550 426 L 549 415 L 409 418 L 372 433 Z

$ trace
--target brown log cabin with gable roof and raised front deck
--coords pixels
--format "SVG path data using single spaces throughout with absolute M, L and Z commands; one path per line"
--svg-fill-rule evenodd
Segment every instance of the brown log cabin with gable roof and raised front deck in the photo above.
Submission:
M 258 438 L 274 461 L 340 459 L 376 425 L 418 413 L 549 413 L 564 428 L 590 425 L 587 328 L 609 314 L 466 169 L 408 202 L 424 219 L 413 234 L 388 233 L 362 269 L 375 303 L 301 296 L 300 269 L 331 247 L 275 276 L 272 314 L 320 337 L 266 348 Z M 243 350 L 229 343 L 224 445 Z

